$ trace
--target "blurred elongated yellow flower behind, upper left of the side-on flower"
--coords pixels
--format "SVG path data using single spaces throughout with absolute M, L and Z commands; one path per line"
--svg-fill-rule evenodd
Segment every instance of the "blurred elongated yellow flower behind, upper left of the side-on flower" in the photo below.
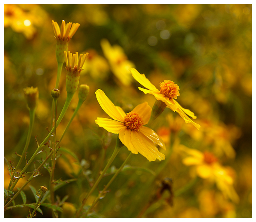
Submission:
M 130 69 L 135 67 L 134 64 L 127 59 L 120 46 L 111 46 L 106 39 L 101 40 L 100 45 L 114 75 L 122 84 L 129 86 L 132 82 Z

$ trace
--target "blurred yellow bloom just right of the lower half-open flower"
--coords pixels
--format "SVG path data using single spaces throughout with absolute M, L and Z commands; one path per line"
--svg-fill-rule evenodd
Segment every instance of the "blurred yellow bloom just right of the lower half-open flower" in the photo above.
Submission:
M 109 71 L 107 60 L 95 50 L 88 50 L 88 57 L 84 62 L 83 73 L 89 73 L 94 79 L 104 79 Z

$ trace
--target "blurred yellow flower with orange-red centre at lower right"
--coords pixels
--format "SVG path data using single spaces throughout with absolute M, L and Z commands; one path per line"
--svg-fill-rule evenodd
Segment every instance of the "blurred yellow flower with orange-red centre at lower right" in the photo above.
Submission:
M 199 150 L 187 148 L 184 145 L 180 145 L 179 149 L 186 154 L 182 161 L 183 164 L 193 166 L 199 177 L 215 182 L 226 198 L 230 198 L 234 202 L 239 201 L 239 197 L 233 187 L 234 171 L 231 168 L 222 166 L 210 152 L 203 153 Z

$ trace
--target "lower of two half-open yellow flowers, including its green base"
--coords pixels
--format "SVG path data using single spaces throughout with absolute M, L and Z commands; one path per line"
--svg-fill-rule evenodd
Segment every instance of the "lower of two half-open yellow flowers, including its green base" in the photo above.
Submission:
M 76 54 L 68 52 L 64 52 L 65 62 L 66 62 L 66 90 L 68 93 L 76 92 L 76 89 L 79 84 L 80 72 L 82 72 L 82 67 L 84 62 L 88 56 L 88 52 L 86 54 L 80 54 L 78 58 L 78 52 Z

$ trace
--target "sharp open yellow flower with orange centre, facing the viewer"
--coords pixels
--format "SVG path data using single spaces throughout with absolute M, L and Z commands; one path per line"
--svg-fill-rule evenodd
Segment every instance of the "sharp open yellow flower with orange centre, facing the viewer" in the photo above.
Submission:
M 118 134 L 122 144 L 133 154 L 140 153 L 149 161 L 165 159 L 164 154 L 156 147 L 157 144 L 165 150 L 163 140 L 154 130 L 144 126 L 148 123 L 151 113 L 147 102 L 126 114 L 121 107 L 115 106 L 102 90 L 98 89 L 95 94 L 101 108 L 112 118 L 98 117 L 95 120 L 96 124 L 108 132 Z

